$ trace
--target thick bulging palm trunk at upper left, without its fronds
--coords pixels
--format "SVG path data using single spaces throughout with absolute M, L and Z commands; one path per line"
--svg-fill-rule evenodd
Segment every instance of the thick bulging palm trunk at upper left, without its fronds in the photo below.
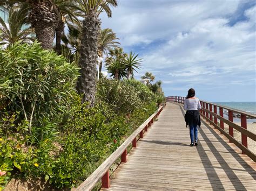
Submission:
M 36 37 L 44 49 L 51 49 L 55 29 L 58 23 L 57 15 L 49 3 L 37 3 L 33 5 L 29 18 L 35 28 Z

